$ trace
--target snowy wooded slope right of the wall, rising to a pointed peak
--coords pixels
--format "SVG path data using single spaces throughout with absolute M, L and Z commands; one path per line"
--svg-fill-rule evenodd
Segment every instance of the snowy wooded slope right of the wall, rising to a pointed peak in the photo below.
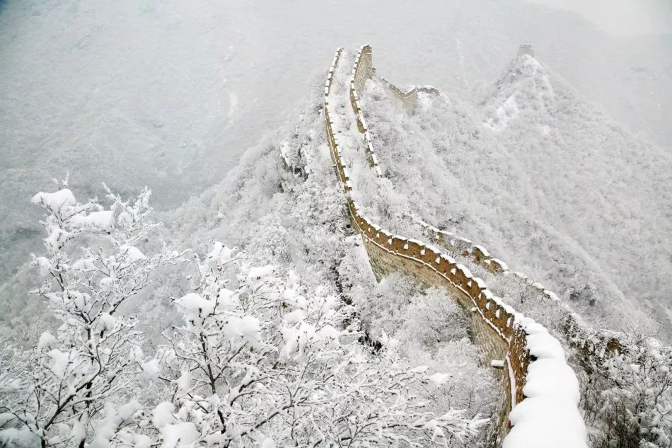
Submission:
M 375 83 L 362 103 L 383 170 L 427 222 L 585 306 L 670 303 L 672 157 L 533 57 L 478 104 L 421 95 L 408 115 Z

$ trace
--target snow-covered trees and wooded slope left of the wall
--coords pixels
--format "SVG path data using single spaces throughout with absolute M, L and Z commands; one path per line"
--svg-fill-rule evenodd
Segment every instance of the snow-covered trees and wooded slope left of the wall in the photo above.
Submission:
M 444 293 L 420 294 L 402 277 L 376 285 L 347 237 L 319 112 L 294 124 L 279 147 L 250 151 L 221 190 L 169 217 L 170 228 L 149 223 L 147 192 L 131 201 L 108 192 L 108 207 L 76 202 L 64 184 L 35 195 L 51 236 L 33 264 L 55 280 L 13 323 L 42 313 L 53 330 L 8 335 L 4 443 L 41 435 L 76 446 L 87 433 L 93 446 L 137 447 L 468 446 L 482 437 L 498 397 L 461 311 L 434 308 Z M 279 166 L 288 147 L 286 159 L 312 173 L 306 180 Z M 238 248 L 212 242 L 223 234 Z M 26 333 L 37 343 L 21 355 L 33 344 L 18 338 Z

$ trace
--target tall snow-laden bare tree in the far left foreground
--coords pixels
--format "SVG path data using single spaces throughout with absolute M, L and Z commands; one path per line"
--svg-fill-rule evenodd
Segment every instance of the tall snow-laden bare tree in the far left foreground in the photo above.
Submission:
M 182 257 L 165 246 L 151 255 L 137 247 L 158 225 L 148 219 L 149 190 L 133 203 L 105 190 L 108 209 L 95 199 L 77 202 L 67 179 L 58 191 L 33 197 L 47 211 L 45 254 L 33 255 L 46 280 L 33 294 L 62 325 L 42 334 L 21 384 L 3 401 L 12 416 L 5 425 L 29 430 L 43 447 L 83 447 L 101 411 L 129 396 L 131 348 L 141 334 L 122 306 L 151 283 L 153 272 Z

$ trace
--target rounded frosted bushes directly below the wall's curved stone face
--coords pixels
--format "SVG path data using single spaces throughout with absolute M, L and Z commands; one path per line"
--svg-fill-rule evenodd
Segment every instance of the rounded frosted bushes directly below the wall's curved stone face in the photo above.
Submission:
M 350 263 L 354 260 L 346 260 L 342 269 L 351 272 Z M 443 289 L 419 290 L 410 278 L 392 274 L 379 284 L 358 279 L 349 294 L 371 343 L 385 332 L 398 340 L 400 354 L 410 362 L 448 375 L 448 384 L 436 391 L 436 403 L 486 415 L 497 411 L 497 386 L 480 366 L 480 349 L 468 339 L 465 311 Z

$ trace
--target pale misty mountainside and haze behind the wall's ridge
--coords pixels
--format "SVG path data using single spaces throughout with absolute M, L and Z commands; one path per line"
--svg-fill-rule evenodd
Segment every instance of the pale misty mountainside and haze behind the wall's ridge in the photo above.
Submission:
M 0 281 L 40 246 L 28 200 L 63 175 L 54 161 L 81 191 L 147 184 L 159 208 L 175 207 L 287 122 L 340 45 L 373 45 L 398 84 L 477 98 L 530 43 L 582 96 L 669 148 L 672 38 L 639 34 L 524 1 L 0 2 Z

